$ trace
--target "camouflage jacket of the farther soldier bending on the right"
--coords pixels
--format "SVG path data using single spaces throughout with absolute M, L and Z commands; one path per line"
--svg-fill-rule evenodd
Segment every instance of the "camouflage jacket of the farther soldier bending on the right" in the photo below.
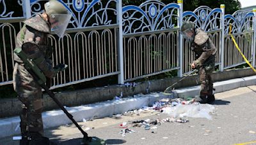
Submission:
M 196 55 L 196 60 L 193 63 L 195 63 L 197 68 L 215 64 L 216 47 L 211 39 L 209 39 L 207 33 L 202 31 L 202 29 L 196 29 L 195 39 L 191 43 L 191 49 Z

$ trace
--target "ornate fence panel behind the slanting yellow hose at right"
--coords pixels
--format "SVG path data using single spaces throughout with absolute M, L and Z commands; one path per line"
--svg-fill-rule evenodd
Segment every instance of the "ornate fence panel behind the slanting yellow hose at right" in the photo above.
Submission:
M 253 60 L 253 12 L 236 11 L 233 15 L 225 15 L 225 47 L 224 47 L 224 69 L 245 64 L 245 60 L 237 51 L 229 32 L 236 39 L 237 45 L 244 56 L 252 62 Z

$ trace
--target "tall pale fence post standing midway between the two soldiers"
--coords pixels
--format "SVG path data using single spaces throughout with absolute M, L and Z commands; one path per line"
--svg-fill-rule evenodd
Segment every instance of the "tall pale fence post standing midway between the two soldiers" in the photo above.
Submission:
M 118 27 L 118 69 L 120 73 L 118 74 L 118 84 L 124 84 L 124 47 L 123 47 L 123 18 L 122 18 L 122 0 L 117 1 L 118 14 L 117 21 Z

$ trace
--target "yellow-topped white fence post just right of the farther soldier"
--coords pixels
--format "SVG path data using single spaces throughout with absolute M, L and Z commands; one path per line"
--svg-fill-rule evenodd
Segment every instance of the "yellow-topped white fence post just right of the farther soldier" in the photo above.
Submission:
M 224 69 L 224 46 L 225 46 L 225 4 L 220 5 L 221 8 L 221 60 L 220 60 L 220 71 L 223 71 Z

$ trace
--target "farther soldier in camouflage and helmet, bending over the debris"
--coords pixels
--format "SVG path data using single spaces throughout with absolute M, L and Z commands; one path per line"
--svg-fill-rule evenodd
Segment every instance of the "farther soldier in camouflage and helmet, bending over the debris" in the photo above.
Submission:
M 211 72 L 214 71 L 216 47 L 202 29 L 195 29 L 193 22 L 184 22 L 181 27 L 182 35 L 191 44 L 196 60 L 191 64 L 192 69 L 198 69 L 200 74 L 201 103 L 210 103 L 215 100 Z

